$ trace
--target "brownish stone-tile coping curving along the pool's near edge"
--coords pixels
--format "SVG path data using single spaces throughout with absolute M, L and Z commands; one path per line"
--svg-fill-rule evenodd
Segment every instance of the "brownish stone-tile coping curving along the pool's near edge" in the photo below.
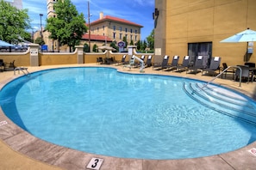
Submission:
M 6 82 L 3 82 L 6 83 Z M 228 87 L 229 88 L 229 87 Z M 47 143 L 28 134 L 7 118 L 2 109 L 0 139 L 10 148 L 29 157 L 64 169 L 85 169 L 92 157 L 103 158 L 101 169 L 254 169 L 256 156 L 248 152 L 256 148 L 256 142 L 222 155 L 184 159 L 184 160 L 136 160 L 122 159 L 103 155 L 92 155 Z M 1 158 L 0 158 L 1 159 Z M 15 162 L 14 162 L 15 163 Z

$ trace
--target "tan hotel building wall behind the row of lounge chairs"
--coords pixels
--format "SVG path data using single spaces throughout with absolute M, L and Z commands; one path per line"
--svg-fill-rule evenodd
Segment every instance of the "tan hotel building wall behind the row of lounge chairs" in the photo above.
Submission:
M 256 30 L 255 16 L 255 0 L 155 0 L 156 60 L 165 54 L 203 55 L 222 57 L 228 65 L 256 63 L 247 43 L 220 43 L 247 27 Z

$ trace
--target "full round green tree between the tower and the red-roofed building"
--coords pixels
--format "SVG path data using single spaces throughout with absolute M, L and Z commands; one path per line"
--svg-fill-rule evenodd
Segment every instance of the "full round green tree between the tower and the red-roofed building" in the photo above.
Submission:
M 59 44 L 69 46 L 72 52 L 87 32 L 84 14 L 78 14 L 71 0 L 58 1 L 54 4 L 54 10 L 57 17 L 47 19 L 46 30 L 51 33 L 51 39 L 58 39 Z

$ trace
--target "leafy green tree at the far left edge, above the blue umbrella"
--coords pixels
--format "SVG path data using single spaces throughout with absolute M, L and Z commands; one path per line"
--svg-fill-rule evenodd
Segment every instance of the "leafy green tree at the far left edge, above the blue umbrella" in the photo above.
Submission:
M 20 39 L 28 39 L 29 28 L 28 9 L 16 9 L 0 0 L 0 39 L 16 44 Z

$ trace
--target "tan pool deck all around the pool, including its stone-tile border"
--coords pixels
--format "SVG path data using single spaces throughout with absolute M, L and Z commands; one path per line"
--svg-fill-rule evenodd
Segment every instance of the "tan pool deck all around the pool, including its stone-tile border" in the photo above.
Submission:
M 41 67 L 28 67 L 29 72 L 36 70 L 46 70 L 59 67 L 75 67 L 75 66 L 104 66 L 97 64 L 73 64 L 73 65 L 53 65 Z M 131 73 L 139 73 L 139 69 L 122 68 L 121 66 L 112 66 L 121 71 Z M 161 74 L 172 76 L 184 76 L 195 78 L 203 81 L 209 81 L 212 76 L 202 76 L 183 73 L 175 73 L 172 71 L 145 69 L 146 74 Z M 0 73 L 0 88 L 6 82 L 14 78 L 22 76 L 14 76 L 13 71 L 5 71 Z M 242 82 L 239 88 L 239 82 L 228 79 L 218 78 L 214 81 L 222 86 L 234 88 L 241 93 L 256 99 L 256 82 Z M 255 111 L 256 112 L 256 111 Z M 234 130 L 235 131 L 235 130 Z M 68 149 L 51 143 L 47 143 L 33 137 L 28 132 L 20 129 L 16 124 L 7 118 L 3 111 L 0 110 L 0 169 L 72 169 L 84 170 L 91 161 L 91 158 L 103 158 L 101 170 L 155 170 L 155 169 L 256 169 L 256 155 L 251 154 L 248 150 L 256 149 L 256 142 L 233 152 L 221 155 L 213 155 L 195 159 L 184 160 L 140 160 L 140 159 L 122 159 L 103 155 L 92 155 Z

